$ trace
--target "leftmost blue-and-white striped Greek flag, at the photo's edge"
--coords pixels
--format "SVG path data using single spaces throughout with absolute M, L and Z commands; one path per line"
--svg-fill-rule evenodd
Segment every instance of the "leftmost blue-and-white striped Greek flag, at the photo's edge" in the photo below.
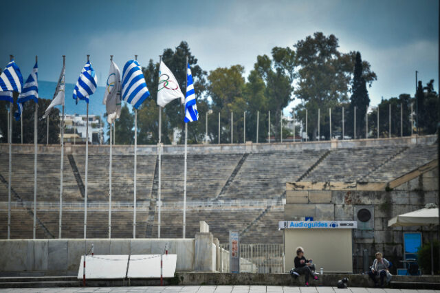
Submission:
M 14 102 L 12 91 L 21 93 L 21 87 L 23 87 L 23 76 L 20 68 L 12 60 L 0 75 L 0 100 Z

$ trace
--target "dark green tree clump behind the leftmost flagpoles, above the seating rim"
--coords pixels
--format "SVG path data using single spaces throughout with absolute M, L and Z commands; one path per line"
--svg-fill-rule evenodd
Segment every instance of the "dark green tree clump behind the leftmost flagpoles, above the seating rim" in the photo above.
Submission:
M 52 100 L 39 98 L 39 107 L 37 118 L 37 141 L 39 144 L 47 143 L 47 122 L 46 119 L 40 120 L 44 115 L 45 110 L 49 107 Z M 12 110 L 17 111 L 17 103 L 14 103 Z M 1 142 L 8 142 L 8 111 L 9 102 L 0 101 L 0 131 L 3 138 L 0 138 Z M 33 101 L 25 102 L 23 105 L 23 143 L 34 143 L 34 115 L 35 115 L 35 103 Z M 48 116 L 49 119 L 49 143 L 60 143 L 60 111 L 57 108 L 52 109 Z M 21 121 L 12 118 L 12 143 L 21 143 Z

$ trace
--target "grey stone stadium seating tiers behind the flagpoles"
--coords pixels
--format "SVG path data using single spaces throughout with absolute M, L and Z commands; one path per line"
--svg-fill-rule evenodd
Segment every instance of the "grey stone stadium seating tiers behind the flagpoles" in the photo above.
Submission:
M 5 150 L 5 148 L 3 148 Z M 87 237 L 107 238 L 109 157 L 89 154 Z M 437 144 L 353 146 L 336 149 L 243 151 L 188 155 L 186 237 L 194 237 L 199 221 L 228 242 L 229 230 L 241 232 L 243 243 L 282 243 L 277 230 L 283 219 L 286 182 L 390 182 L 437 158 Z M 113 155 L 112 233 L 133 237 L 133 155 Z M 136 237 L 157 237 L 157 155 L 137 155 Z M 182 237 L 184 156 L 162 156 L 161 237 Z M 38 155 L 37 238 L 58 237 L 59 153 Z M 66 153 L 63 172 L 63 237 L 83 238 L 85 155 Z M 12 154 L 11 238 L 32 238 L 34 155 Z M 272 201 L 272 202 L 270 202 Z M 8 153 L 0 153 L 0 238 L 7 236 Z M 176 208 L 170 208 L 170 204 Z M 241 204 L 237 204 L 241 203 Z M 243 204 L 245 203 L 245 204 Z M 168 207 L 167 207 L 168 204 Z M 197 206 L 199 204 L 199 206 Z M 69 206 L 70 205 L 70 206 Z M 117 208 L 122 206 L 122 208 Z

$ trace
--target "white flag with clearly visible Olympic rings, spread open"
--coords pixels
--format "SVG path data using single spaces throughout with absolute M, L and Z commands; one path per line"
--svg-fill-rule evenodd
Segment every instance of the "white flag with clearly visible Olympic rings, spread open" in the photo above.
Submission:
M 181 93 L 179 83 L 174 77 L 173 72 L 160 61 L 159 67 L 159 87 L 157 89 L 157 105 L 165 107 L 168 102 L 175 98 L 180 98 L 181 104 L 185 102 L 185 96 Z

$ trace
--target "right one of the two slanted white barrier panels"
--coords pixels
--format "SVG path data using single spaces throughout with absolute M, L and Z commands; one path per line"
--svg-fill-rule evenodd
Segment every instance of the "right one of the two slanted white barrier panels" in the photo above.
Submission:
M 177 254 L 162 256 L 164 278 L 173 278 Z M 160 278 L 160 254 L 133 254 L 130 257 L 128 278 Z

